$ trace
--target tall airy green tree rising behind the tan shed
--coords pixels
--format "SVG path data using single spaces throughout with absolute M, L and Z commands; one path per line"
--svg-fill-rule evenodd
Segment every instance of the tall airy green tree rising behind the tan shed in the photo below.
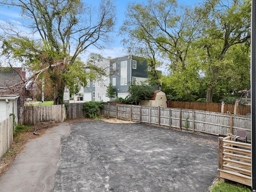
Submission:
M 172 77 L 171 85 L 175 83 L 177 93 L 188 97 L 198 92 L 199 66 L 192 43 L 198 37 L 200 18 L 194 17 L 192 9 L 178 7 L 175 0 L 134 2 L 127 10 L 121 28 L 122 34 L 128 34 L 124 45 L 130 52 L 146 57 L 152 68 L 150 79 L 162 90 L 161 75 L 156 70 L 162 58 L 168 62 L 168 77 Z

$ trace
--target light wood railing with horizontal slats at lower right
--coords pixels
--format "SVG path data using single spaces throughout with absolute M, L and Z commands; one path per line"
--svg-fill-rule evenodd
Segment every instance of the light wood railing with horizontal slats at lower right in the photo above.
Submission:
M 232 134 L 219 137 L 219 163 L 220 180 L 232 180 L 252 186 L 251 172 L 251 144 L 232 141 Z

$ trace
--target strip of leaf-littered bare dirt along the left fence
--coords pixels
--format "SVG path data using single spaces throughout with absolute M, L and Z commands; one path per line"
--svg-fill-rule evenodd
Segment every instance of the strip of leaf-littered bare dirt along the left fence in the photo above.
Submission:
M 57 124 L 54 124 L 56 126 Z M 0 159 L 0 175 L 2 175 L 12 164 L 14 158 L 17 154 L 22 152 L 25 148 L 25 144 L 30 139 L 35 139 L 42 136 L 46 130 L 49 128 L 40 128 L 36 131 L 38 135 L 35 135 L 34 127 L 31 127 L 27 132 L 19 133 L 13 137 L 13 144 L 11 145 L 10 149 L 6 152 L 6 154 Z

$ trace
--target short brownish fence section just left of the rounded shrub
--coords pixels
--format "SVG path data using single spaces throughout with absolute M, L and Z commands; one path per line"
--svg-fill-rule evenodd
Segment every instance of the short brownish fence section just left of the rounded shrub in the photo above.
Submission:
M 74 118 L 83 118 L 85 113 L 83 110 L 84 103 L 69 103 L 68 109 L 66 110 L 66 118 L 74 119 Z

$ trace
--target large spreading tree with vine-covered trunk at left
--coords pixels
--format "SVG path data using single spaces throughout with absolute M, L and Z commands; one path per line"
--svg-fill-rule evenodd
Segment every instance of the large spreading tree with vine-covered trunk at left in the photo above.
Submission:
M 97 9 L 80 0 L 6 0 L 1 5 L 20 8 L 23 25 L 31 32 L 20 32 L 18 26 L 2 26 L 2 54 L 19 59 L 32 69 L 34 76 L 30 79 L 48 78 L 54 90 L 54 104 L 63 102 L 67 75 L 72 74 L 78 56 L 89 46 L 102 48 L 98 42 L 110 42 L 116 22 L 111 0 L 102 0 Z M 76 71 L 82 74 L 80 67 Z

